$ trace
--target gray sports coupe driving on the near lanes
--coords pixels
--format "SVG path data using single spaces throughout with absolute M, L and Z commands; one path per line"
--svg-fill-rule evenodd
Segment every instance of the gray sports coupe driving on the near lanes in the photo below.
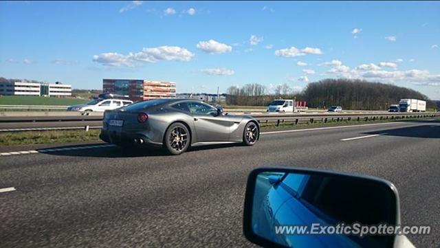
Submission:
M 228 115 L 192 99 L 162 98 L 104 112 L 100 139 L 118 146 L 163 146 L 173 155 L 189 146 L 254 145 L 260 126 L 248 115 Z

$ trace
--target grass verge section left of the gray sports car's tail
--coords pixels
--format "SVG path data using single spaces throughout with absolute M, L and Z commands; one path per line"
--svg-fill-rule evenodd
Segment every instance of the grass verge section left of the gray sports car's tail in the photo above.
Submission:
M 0 133 L 0 146 L 99 141 L 100 129 Z

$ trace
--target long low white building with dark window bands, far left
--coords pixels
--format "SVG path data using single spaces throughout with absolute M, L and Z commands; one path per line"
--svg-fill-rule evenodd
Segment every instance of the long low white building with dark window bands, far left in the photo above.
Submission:
M 72 85 L 61 82 L 0 82 L 0 95 L 70 96 Z

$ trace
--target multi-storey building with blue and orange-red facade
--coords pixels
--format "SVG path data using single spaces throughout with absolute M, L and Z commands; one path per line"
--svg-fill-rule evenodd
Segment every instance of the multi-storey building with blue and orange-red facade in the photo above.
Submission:
M 159 82 L 141 79 L 103 79 L 103 93 L 128 95 L 133 101 L 155 98 L 175 98 L 175 82 Z

